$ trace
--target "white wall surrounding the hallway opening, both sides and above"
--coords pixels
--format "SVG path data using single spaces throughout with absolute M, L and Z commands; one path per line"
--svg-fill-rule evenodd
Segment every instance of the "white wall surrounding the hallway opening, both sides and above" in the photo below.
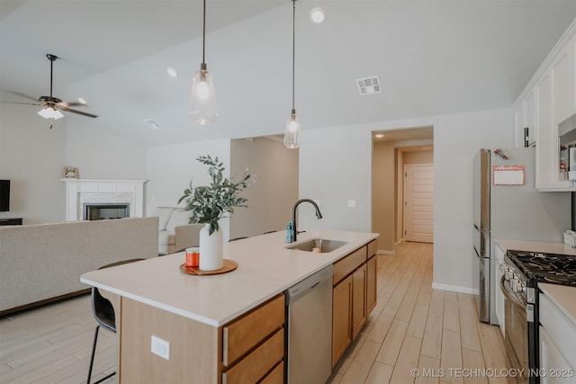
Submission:
M 320 200 L 324 219 L 302 206 L 299 227 L 370 231 L 371 132 L 419 126 L 434 127 L 434 284 L 472 292 L 473 156 L 481 147 L 513 147 L 511 109 L 303 130 L 301 197 Z

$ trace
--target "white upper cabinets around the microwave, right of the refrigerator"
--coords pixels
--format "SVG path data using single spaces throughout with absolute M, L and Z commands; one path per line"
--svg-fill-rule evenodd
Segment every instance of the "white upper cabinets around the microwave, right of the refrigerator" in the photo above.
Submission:
M 576 113 L 576 20 L 514 103 L 517 147 L 536 143 L 536 188 L 576 191 L 559 179 L 558 124 Z

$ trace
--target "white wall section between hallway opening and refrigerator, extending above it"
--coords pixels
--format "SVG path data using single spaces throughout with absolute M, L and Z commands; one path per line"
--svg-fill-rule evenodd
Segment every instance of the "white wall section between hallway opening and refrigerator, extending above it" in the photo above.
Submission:
M 512 110 L 505 109 L 446 115 L 434 126 L 434 288 L 478 289 L 473 158 L 481 147 L 514 147 L 513 123 Z

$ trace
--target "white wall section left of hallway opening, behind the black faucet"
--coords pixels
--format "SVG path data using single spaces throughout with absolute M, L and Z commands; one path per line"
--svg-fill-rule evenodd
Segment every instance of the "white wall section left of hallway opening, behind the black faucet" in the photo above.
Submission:
M 301 204 L 299 230 L 370 231 L 371 165 L 369 126 L 302 130 L 300 197 L 319 203 L 323 219 L 316 219 L 311 204 Z M 348 208 L 348 200 L 355 200 L 356 208 Z

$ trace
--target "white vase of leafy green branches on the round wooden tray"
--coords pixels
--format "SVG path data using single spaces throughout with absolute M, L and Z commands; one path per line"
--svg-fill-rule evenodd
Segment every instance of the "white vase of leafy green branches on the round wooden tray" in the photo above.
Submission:
M 208 165 L 208 174 L 211 177 L 210 185 L 190 187 L 184 190 L 184 195 L 178 204 L 184 201 L 184 210 L 191 210 L 190 223 L 204 224 L 200 230 L 200 269 L 215 271 L 222 268 L 223 235 L 219 220 L 227 214 L 233 214 L 237 207 L 247 208 L 247 199 L 240 196 L 240 192 L 248 187 L 248 181 L 255 181 L 255 175 L 248 169 L 240 178 L 227 179 L 224 177 L 224 166 L 218 157 L 199 156 L 197 161 Z

